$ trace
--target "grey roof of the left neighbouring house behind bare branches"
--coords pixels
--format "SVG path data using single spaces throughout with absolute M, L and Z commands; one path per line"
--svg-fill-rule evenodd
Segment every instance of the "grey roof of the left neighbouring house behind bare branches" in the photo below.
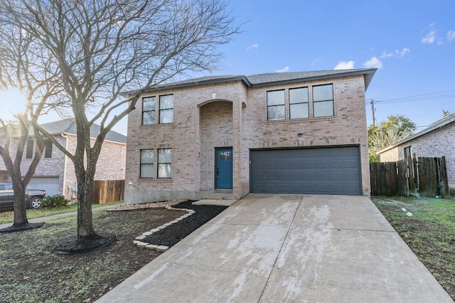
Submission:
M 43 129 L 45 129 L 45 131 L 49 134 L 77 134 L 76 122 L 74 118 L 44 123 L 41 124 L 41 127 L 43 127 Z M 90 137 L 97 137 L 98 134 L 100 134 L 100 125 L 92 124 L 92 127 L 90 127 Z M 127 136 L 114 132 L 113 130 L 107 132 L 105 139 L 112 142 L 127 143 Z

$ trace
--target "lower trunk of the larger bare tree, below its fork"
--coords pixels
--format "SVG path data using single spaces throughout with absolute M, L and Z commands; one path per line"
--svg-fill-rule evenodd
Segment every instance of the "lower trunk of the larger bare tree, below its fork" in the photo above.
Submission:
M 76 166 L 76 165 L 75 165 Z M 98 238 L 93 228 L 92 186 L 93 177 L 87 176 L 85 169 L 76 168 L 77 177 L 77 238 Z

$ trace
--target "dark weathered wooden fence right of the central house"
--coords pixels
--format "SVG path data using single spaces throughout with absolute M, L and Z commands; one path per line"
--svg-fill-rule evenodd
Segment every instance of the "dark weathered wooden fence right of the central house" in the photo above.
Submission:
M 449 196 L 444 156 L 370 163 L 370 181 L 371 196 Z

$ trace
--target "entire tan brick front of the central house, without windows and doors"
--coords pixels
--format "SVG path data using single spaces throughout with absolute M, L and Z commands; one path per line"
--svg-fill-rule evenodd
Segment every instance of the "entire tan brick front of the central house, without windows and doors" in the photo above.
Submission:
M 267 91 L 333 84 L 335 115 L 267 121 Z M 231 196 L 250 192 L 250 150 L 281 147 L 360 147 L 363 194 L 370 194 L 363 75 L 248 87 L 242 80 L 147 92 L 173 94 L 173 123 L 141 125 L 142 102 L 129 114 L 125 202 L 200 198 L 215 192 L 215 148 L 232 147 Z M 288 96 L 288 94 L 285 94 Z M 158 110 L 158 107 L 156 107 Z M 309 112 L 313 112 L 310 102 Z M 301 133 L 301 136 L 297 134 Z M 173 149 L 171 179 L 141 179 L 141 149 Z M 157 160 L 154 159 L 156 168 Z M 156 170 L 156 169 L 155 169 Z

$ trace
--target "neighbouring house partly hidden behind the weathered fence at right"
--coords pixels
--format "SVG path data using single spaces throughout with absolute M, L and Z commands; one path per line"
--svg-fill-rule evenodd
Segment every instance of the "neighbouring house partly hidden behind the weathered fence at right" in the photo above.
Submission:
M 455 113 L 426 129 L 378 151 L 381 162 L 398 161 L 415 154 L 417 157 L 446 158 L 447 179 L 451 195 L 455 194 Z

